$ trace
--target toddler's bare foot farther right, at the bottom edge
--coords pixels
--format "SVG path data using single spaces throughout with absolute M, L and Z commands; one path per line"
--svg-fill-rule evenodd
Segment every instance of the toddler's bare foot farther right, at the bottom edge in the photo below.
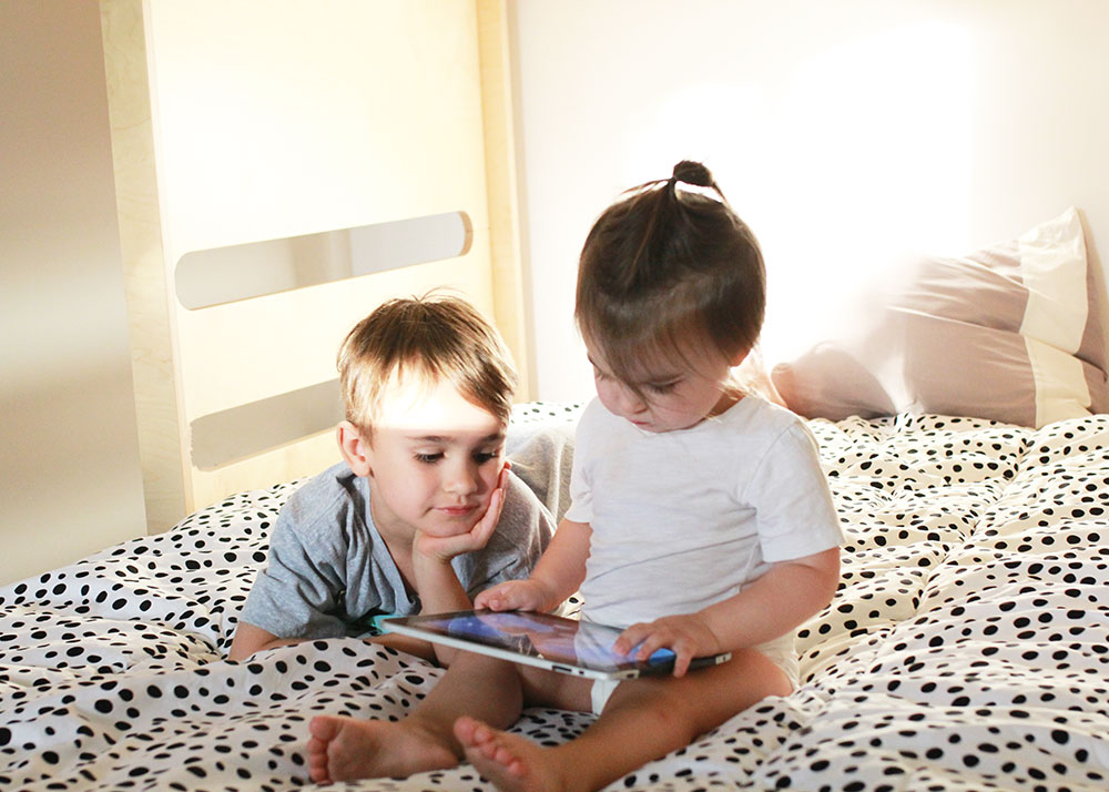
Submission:
M 567 789 L 564 779 L 547 752 L 527 738 L 492 729 L 472 718 L 455 721 L 455 737 L 466 758 L 499 790 L 556 792 Z

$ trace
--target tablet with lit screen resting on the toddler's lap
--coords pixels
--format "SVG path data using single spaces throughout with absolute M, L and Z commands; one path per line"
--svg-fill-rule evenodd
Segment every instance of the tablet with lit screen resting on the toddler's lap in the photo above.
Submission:
M 612 651 L 623 630 L 550 613 L 464 610 L 395 617 L 379 623 L 386 632 L 577 677 L 634 679 L 670 673 L 674 667 L 674 653 L 669 649 L 658 650 L 647 661 L 637 661 Z M 695 658 L 690 669 L 715 666 L 731 657 L 724 653 Z

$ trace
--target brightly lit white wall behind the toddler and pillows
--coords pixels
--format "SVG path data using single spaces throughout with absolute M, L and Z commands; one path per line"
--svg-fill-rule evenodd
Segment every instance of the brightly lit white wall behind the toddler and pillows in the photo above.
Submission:
M 962 252 L 1069 205 L 1109 244 L 1109 3 L 517 2 L 539 398 L 591 395 L 577 256 L 623 189 L 701 159 L 760 237 L 770 362 L 912 251 Z

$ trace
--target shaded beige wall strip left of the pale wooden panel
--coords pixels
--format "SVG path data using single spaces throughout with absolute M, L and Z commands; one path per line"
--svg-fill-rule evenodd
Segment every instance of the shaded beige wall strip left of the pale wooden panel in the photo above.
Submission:
M 145 532 L 95 2 L 0 2 L 0 583 Z

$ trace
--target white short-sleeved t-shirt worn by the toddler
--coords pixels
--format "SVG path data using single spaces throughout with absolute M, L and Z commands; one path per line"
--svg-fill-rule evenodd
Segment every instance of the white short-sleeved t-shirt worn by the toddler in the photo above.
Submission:
M 658 434 L 594 399 L 578 425 L 570 498 L 566 517 L 592 528 L 582 618 L 615 627 L 698 611 L 772 561 L 843 544 L 816 440 L 755 396 Z

